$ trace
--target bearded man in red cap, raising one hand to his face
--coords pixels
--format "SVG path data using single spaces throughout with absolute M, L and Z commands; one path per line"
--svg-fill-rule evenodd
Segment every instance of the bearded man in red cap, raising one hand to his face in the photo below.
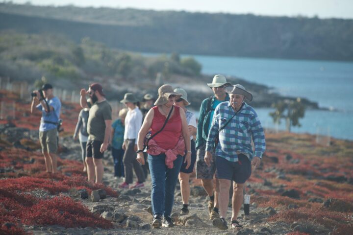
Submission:
M 103 88 L 99 83 L 93 83 L 88 91 L 81 89 L 80 104 L 86 108 L 86 94 L 92 100 L 92 107 L 89 111 L 86 145 L 86 164 L 88 181 L 102 183 L 104 168 L 102 164 L 103 153 L 108 148 L 111 136 L 112 109 L 105 99 Z M 96 181 L 95 181 L 96 176 Z

